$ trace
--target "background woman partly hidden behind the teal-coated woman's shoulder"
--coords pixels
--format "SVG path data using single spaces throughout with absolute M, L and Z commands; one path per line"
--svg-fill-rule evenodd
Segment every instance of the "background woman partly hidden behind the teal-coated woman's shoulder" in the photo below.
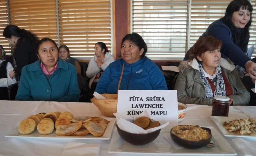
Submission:
M 76 73 L 81 75 L 80 64 L 77 59 L 70 56 L 70 51 L 68 47 L 66 45 L 60 45 L 58 52 L 59 52 L 60 59 L 74 65 L 76 67 Z

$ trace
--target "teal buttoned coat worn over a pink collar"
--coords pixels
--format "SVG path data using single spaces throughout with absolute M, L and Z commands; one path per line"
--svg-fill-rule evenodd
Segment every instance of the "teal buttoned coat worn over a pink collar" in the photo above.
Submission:
M 48 81 L 40 63 L 22 68 L 16 100 L 77 102 L 80 90 L 75 66 L 58 58 L 58 68 Z

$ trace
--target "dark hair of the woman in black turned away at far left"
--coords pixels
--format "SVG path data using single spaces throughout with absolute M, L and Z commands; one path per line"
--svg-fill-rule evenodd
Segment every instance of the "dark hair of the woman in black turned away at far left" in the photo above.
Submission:
M 29 31 L 24 29 L 20 29 L 18 26 L 15 25 L 8 25 L 4 28 L 3 36 L 5 38 L 11 38 L 11 36 L 20 37 L 17 41 L 17 44 L 22 40 L 30 40 L 33 43 L 37 43 L 39 41 L 38 37 L 35 34 L 32 34 Z

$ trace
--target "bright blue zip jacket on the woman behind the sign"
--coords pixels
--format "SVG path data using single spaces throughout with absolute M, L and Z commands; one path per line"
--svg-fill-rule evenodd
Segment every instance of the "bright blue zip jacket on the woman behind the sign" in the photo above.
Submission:
M 142 57 L 139 61 L 128 64 L 123 59 L 111 63 L 100 77 L 96 92 L 117 93 L 118 83 L 124 63 L 124 73 L 119 90 L 166 90 L 164 75 L 150 59 Z

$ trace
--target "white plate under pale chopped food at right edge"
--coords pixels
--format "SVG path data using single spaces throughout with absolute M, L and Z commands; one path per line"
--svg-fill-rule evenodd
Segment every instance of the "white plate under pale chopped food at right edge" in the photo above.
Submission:
M 237 119 L 234 117 L 217 117 L 217 116 L 212 116 L 212 120 L 215 122 L 215 124 L 218 126 L 220 131 L 224 136 L 228 137 L 240 137 L 240 138 L 246 138 L 246 140 L 256 140 L 256 136 L 250 136 L 250 135 L 242 135 L 242 134 L 232 134 L 228 132 L 224 126 L 222 125 L 224 121 L 229 122 L 231 120 Z

